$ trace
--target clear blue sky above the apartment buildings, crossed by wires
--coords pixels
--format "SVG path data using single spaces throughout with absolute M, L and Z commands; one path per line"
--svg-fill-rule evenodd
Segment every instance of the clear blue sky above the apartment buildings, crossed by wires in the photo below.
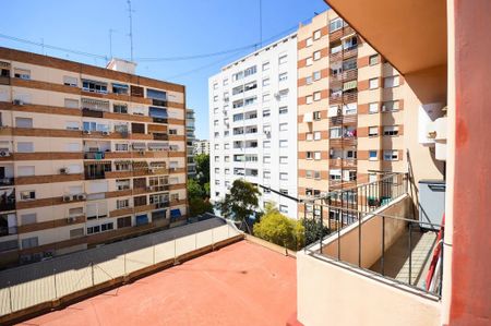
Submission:
M 0 34 L 109 57 L 130 57 L 125 0 L 2 1 Z M 322 0 L 263 0 L 263 39 L 294 32 L 322 12 Z M 259 43 L 259 0 L 133 0 L 134 57 L 168 58 L 212 53 Z M 282 35 L 278 35 L 282 34 Z M 33 52 L 41 47 L 0 37 L 0 46 Z M 187 61 L 139 62 L 137 74 L 184 84 L 196 112 L 196 136 L 208 137 L 207 79 L 253 48 Z M 46 49 L 48 56 L 105 65 L 104 59 Z M 205 68 L 203 68 L 205 67 Z M 202 69 L 200 69 L 202 68 Z M 183 74 L 193 71 L 192 73 Z

